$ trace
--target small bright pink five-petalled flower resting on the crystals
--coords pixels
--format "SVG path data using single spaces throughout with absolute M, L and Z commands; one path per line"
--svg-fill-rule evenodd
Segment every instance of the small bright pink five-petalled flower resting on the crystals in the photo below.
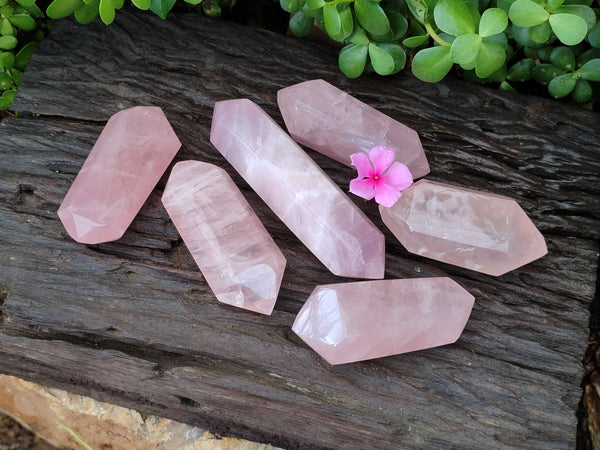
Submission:
M 350 182 L 350 192 L 359 197 L 391 207 L 412 182 L 408 167 L 394 162 L 395 151 L 385 145 L 377 145 L 366 153 L 350 156 L 352 165 L 358 170 L 358 177 Z

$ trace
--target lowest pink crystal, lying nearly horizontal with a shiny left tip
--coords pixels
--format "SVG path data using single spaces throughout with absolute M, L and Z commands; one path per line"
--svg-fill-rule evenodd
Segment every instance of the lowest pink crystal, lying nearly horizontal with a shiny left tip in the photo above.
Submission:
M 317 286 L 292 329 L 330 364 L 451 344 L 474 298 L 450 278 Z

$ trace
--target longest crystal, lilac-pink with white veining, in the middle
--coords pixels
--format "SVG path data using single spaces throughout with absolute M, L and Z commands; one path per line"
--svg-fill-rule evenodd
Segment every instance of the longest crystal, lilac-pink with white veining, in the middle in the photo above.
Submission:
M 383 234 L 260 107 L 216 103 L 210 140 L 331 272 L 383 278 Z

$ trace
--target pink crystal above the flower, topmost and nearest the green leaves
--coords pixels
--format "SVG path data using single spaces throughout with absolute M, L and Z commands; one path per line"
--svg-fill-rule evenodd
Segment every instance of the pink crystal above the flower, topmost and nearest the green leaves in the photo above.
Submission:
M 277 103 L 294 140 L 343 164 L 376 145 L 396 150 L 414 178 L 429 173 L 417 132 L 323 80 L 281 89 Z

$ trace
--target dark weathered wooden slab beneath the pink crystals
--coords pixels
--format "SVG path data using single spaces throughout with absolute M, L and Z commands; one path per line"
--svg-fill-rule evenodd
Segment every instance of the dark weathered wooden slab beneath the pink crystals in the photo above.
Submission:
M 427 178 L 515 198 L 546 257 L 491 277 L 409 254 L 386 278 L 448 275 L 476 297 L 451 346 L 330 366 L 290 329 L 331 275 L 209 143 L 212 106 L 324 78 L 416 129 Z M 73 242 L 56 210 L 104 121 L 161 106 L 199 159 L 234 178 L 288 259 L 272 316 L 219 304 L 160 204 L 113 243 Z M 212 431 L 293 447 L 564 448 L 576 435 L 600 237 L 599 116 L 559 102 L 410 76 L 347 80 L 335 51 L 196 15 L 121 11 L 57 22 L 0 123 L 0 372 Z M 309 152 L 344 189 L 353 177 Z M 276 187 L 274 187 L 276 188 Z

